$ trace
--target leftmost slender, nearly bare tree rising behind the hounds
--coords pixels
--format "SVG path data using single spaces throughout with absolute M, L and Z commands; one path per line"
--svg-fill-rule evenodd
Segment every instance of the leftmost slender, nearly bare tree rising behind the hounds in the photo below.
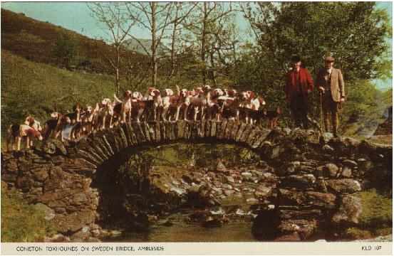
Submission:
M 128 33 L 135 24 L 135 19 L 130 19 L 127 13 L 125 4 L 120 2 L 113 3 L 88 3 L 88 7 L 92 12 L 93 18 L 99 21 L 104 27 L 108 35 L 105 41 L 110 43 L 115 50 L 115 56 L 110 53 L 102 53 L 104 58 L 108 60 L 111 67 L 115 71 L 115 85 L 120 91 L 120 50 L 123 47 L 123 42 L 128 36 Z

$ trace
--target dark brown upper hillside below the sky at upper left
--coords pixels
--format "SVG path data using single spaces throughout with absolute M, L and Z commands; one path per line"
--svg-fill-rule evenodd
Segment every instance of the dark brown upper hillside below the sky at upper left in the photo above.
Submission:
M 90 63 L 86 70 L 95 73 L 111 73 L 113 70 L 105 55 L 114 55 L 113 48 L 103 41 L 88 38 L 79 33 L 70 31 L 61 26 L 48 22 L 36 21 L 24 14 L 16 14 L 12 11 L 1 9 L 1 49 L 11 51 L 16 55 L 40 63 L 58 64 L 53 53 L 58 36 L 68 33 L 78 41 L 80 45 L 80 62 Z M 128 51 L 128 55 L 135 62 L 148 61 L 145 55 Z M 76 65 L 78 64 L 75 63 Z

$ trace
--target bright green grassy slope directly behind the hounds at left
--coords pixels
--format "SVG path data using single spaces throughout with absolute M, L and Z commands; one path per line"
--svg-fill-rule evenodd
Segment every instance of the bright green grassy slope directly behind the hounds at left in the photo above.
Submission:
M 71 72 L 1 50 L 2 132 L 28 114 L 43 122 L 53 111 L 71 111 L 77 102 L 93 104 L 115 91 L 110 75 Z

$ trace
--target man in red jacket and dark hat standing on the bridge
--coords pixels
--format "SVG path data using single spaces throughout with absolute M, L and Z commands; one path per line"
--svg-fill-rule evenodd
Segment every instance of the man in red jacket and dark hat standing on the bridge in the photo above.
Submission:
M 308 102 L 313 90 L 313 80 L 309 71 L 301 68 L 301 58 L 291 58 L 292 69 L 286 74 L 286 101 L 289 102 L 296 127 L 308 129 Z

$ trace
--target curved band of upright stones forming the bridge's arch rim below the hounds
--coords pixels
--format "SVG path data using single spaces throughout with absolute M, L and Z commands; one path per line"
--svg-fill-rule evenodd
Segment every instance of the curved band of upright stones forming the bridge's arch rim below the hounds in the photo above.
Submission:
M 252 149 L 262 146 L 269 129 L 260 129 L 252 124 L 227 121 L 215 122 L 131 122 L 113 129 L 91 134 L 86 139 L 61 146 L 61 150 L 70 151 L 95 166 L 110 159 L 120 151 L 140 144 L 166 144 L 170 142 L 230 142 L 242 144 Z

